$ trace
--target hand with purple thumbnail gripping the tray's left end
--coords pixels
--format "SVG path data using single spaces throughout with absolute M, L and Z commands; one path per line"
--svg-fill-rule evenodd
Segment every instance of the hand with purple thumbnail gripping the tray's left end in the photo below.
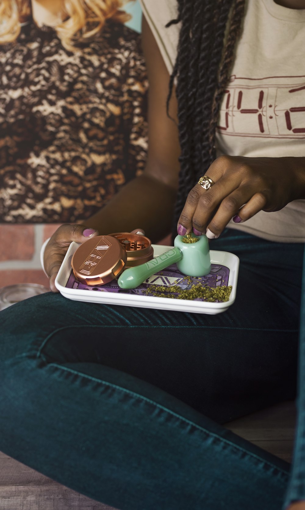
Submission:
M 85 225 L 61 225 L 50 238 L 44 250 L 43 265 L 50 279 L 50 290 L 59 292 L 55 287 L 55 278 L 62 265 L 68 247 L 72 241 L 84 243 L 91 237 L 98 236 L 97 230 Z

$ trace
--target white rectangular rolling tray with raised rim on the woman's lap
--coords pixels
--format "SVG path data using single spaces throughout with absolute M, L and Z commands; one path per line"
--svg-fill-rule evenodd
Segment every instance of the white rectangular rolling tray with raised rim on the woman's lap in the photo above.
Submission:
M 173 310 L 181 312 L 191 312 L 199 314 L 219 314 L 225 312 L 235 301 L 239 259 L 233 253 L 227 251 L 210 251 L 211 263 L 225 266 L 230 270 L 228 275 L 228 285 L 232 285 L 231 295 L 226 302 L 205 302 L 199 300 L 173 299 L 167 297 L 156 297 L 147 295 L 115 293 L 115 292 L 96 292 L 96 290 L 71 289 L 67 288 L 67 282 L 71 274 L 71 260 L 73 253 L 80 245 L 72 242 L 68 248 L 64 261 L 55 280 L 55 285 L 60 293 L 68 298 L 77 301 L 86 301 L 91 303 L 103 303 L 111 305 L 124 305 L 129 307 L 144 307 L 160 310 Z M 153 245 L 154 256 L 158 257 L 172 246 Z M 166 270 L 165 270 L 166 271 Z M 150 277 L 149 279 L 151 279 Z

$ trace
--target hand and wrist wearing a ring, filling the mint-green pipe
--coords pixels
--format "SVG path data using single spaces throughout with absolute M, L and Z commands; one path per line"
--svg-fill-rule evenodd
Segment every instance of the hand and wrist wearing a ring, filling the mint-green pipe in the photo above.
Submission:
M 219 237 L 233 218 L 246 221 L 259 211 L 278 211 L 287 203 L 305 198 L 305 158 L 244 158 L 220 156 L 207 175 L 215 182 L 209 189 L 199 184 L 188 194 L 177 231 Z

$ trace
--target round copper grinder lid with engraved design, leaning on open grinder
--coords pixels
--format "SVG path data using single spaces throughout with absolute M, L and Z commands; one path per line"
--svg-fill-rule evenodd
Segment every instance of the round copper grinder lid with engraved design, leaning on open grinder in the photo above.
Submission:
M 73 254 L 71 266 L 79 282 L 104 285 L 121 273 L 126 260 L 126 251 L 117 239 L 98 236 L 81 244 Z

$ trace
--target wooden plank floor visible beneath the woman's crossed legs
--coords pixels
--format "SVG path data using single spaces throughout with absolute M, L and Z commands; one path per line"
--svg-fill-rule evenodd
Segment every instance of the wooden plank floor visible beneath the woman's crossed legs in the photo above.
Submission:
M 239 436 L 290 462 L 295 409 L 285 402 L 227 424 Z M 0 452 L 0 510 L 113 510 Z

